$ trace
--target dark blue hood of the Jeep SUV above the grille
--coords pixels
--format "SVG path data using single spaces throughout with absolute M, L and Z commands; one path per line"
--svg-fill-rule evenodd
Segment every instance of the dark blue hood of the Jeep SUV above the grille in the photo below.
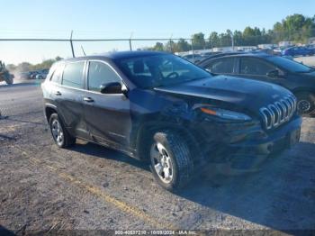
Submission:
M 275 103 L 286 95 L 292 95 L 282 86 L 228 76 L 207 77 L 179 85 L 157 87 L 155 90 L 174 95 L 207 98 L 220 104 L 223 102 L 236 105 L 236 110 L 245 109 L 254 113 L 258 113 L 262 106 Z

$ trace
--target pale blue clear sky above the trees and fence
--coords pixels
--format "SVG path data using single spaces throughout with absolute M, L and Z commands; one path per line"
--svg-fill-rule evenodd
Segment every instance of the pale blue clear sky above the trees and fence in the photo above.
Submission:
M 289 14 L 315 14 L 314 0 L 0 0 L 0 38 L 189 38 L 194 32 L 271 29 Z M 133 48 L 155 42 L 134 43 Z M 128 42 L 80 42 L 76 54 L 128 50 Z M 0 41 L 6 63 L 70 57 L 67 42 Z

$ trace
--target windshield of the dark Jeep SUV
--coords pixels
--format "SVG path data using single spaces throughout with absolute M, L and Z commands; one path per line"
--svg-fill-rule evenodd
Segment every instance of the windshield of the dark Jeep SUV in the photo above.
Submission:
M 169 86 L 211 75 L 192 63 L 173 55 L 119 59 L 121 71 L 143 88 Z

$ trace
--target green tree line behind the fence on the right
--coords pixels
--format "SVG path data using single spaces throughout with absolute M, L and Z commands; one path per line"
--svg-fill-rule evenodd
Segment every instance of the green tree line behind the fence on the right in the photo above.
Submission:
M 287 16 L 282 22 L 275 23 L 273 29 L 259 29 L 247 26 L 243 32 L 230 31 L 218 33 L 211 32 L 208 37 L 202 33 L 194 33 L 191 41 L 180 39 L 179 41 L 157 42 L 154 47 L 146 50 L 171 50 L 181 52 L 187 50 L 212 49 L 217 47 L 256 46 L 265 43 L 278 43 L 279 41 L 293 41 L 295 43 L 308 43 L 311 37 L 315 37 L 315 15 L 313 17 L 302 14 Z

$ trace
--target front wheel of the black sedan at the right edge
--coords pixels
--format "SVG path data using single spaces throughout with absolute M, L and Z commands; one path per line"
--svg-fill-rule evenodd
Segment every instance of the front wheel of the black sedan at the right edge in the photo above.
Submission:
M 315 111 L 315 95 L 308 92 L 302 92 L 296 95 L 297 110 L 301 115 L 308 115 Z

